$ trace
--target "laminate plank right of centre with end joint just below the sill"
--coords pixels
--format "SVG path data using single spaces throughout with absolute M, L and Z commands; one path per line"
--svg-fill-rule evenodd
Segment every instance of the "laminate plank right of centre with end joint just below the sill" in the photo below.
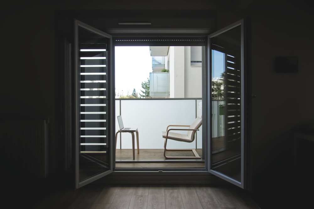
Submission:
M 167 209 L 182 209 L 183 201 L 180 190 L 165 189 L 165 205 Z

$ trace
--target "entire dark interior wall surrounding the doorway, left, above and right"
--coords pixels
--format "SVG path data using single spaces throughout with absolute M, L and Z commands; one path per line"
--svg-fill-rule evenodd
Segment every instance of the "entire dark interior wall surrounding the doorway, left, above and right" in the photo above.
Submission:
M 49 173 L 64 169 L 61 135 L 61 79 L 55 51 L 55 10 L 66 9 L 216 9 L 217 28 L 246 16 L 252 36 L 252 181 L 253 190 L 263 182 L 290 176 L 292 130 L 310 123 L 314 116 L 313 15 L 301 3 L 274 4 L 238 1 L 147 1 L 104 3 L 24 3 L 1 7 L 0 64 L 1 117 L 50 118 Z M 225 1 L 231 2 L 231 1 Z M 204 6 L 206 5 L 206 6 Z M 160 13 L 162 15 L 162 12 Z M 297 56 L 299 71 L 275 73 L 275 56 Z M 57 65 L 57 66 L 56 66 Z M 272 176 L 275 174 L 276 178 Z M 282 180 L 281 180 L 282 181 Z

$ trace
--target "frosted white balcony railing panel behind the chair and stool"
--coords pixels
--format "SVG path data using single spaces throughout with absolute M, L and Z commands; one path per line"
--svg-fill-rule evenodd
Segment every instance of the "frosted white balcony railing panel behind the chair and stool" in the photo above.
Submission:
M 122 115 L 125 127 L 138 128 L 140 149 L 163 149 L 162 131 L 168 125 L 190 125 L 196 118 L 201 99 L 116 99 L 116 116 Z M 121 110 L 121 112 L 120 112 Z M 119 124 L 116 118 L 116 132 Z M 181 132 L 182 133 L 182 132 Z M 121 148 L 132 149 L 130 133 L 121 134 Z M 136 145 L 135 145 L 136 146 Z M 192 143 L 170 140 L 167 148 L 202 148 L 202 126 Z M 120 148 L 120 135 L 117 149 Z

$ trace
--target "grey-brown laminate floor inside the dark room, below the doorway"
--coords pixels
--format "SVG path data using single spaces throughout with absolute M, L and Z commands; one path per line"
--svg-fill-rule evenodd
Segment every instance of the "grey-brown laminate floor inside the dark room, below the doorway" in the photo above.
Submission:
M 51 192 L 34 199 L 29 208 L 237 208 L 259 209 L 234 185 L 101 185 Z M 27 207 L 28 208 L 28 207 Z

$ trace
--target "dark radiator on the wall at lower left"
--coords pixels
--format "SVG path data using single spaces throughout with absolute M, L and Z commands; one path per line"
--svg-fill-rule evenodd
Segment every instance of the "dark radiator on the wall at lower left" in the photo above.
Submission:
M 0 120 L 4 173 L 46 178 L 48 120 Z

